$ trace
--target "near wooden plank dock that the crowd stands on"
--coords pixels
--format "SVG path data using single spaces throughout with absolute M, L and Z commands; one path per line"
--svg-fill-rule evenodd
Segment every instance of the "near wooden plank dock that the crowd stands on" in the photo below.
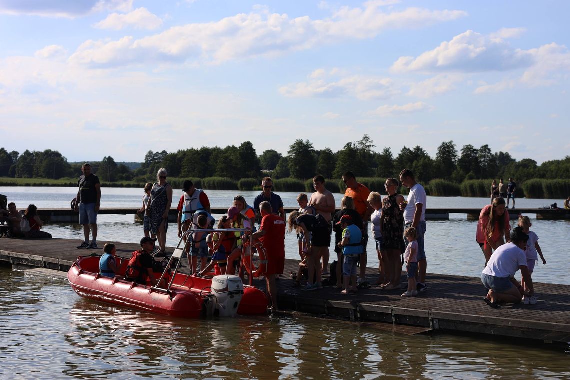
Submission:
M 102 254 L 102 250 L 77 250 L 77 240 L 0 239 L 0 262 L 15 269 L 47 268 L 67 272 L 79 255 Z M 103 242 L 100 242 L 101 246 Z M 129 258 L 137 244 L 117 243 L 117 255 Z M 402 291 L 377 287 L 357 295 L 341 295 L 336 288 L 302 292 L 288 276 L 298 261 L 287 260 L 285 275 L 278 281 L 279 306 L 284 310 L 325 318 L 361 322 L 384 322 L 417 326 L 426 330 L 469 332 L 491 336 L 525 338 L 543 342 L 570 343 L 570 286 L 536 283 L 536 305 L 506 305 L 491 309 L 483 302 L 486 289 L 473 277 L 427 275 L 429 290 L 418 297 L 402 299 Z M 368 268 L 369 280 L 377 269 Z M 405 277 L 402 276 L 402 283 Z M 264 288 L 264 281 L 254 285 Z

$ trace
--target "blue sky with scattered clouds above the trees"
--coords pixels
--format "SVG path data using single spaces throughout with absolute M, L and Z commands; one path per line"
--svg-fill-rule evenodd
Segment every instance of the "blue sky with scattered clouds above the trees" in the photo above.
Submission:
M 0 0 L 0 147 L 570 154 L 570 2 Z

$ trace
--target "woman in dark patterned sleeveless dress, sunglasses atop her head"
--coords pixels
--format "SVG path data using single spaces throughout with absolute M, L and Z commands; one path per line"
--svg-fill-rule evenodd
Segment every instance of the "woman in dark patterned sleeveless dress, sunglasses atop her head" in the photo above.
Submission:
M 166 255 L 166 232 L 168 231 L 168 213 L 172 207 L 172 186 L 166 182 L 168 172 L 164 167 L 158 169 L 156 183 L 150 190 L 146 215 L 150 216 L 150 232 L 156 234 L 158 252 Z

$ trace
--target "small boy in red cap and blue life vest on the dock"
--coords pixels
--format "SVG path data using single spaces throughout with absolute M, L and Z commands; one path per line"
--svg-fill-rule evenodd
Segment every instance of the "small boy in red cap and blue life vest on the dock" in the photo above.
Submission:
M 362 231 L 352 223 L 350 215 L 344 215 L 340 218 L 340 222 L 336 224 L 340 224 L 343 228 L 343 239 L 339 243 L 339 247 L 342 247 L 344 255 L 344 290 L 342 293 L 356 292 L 358 290 L 356 285 L 356 267 L 360 260 L 360 255 L 364 252 L 364 247 L 361 244 Z M 349 288 L 349 281 L 352 284 L 351 288 Z

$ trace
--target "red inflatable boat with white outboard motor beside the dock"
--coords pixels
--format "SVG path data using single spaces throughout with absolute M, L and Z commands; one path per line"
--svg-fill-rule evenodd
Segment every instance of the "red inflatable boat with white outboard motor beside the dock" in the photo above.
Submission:
M 179 244 L 180 246 L 180 244 Z M 139 285 L 99 274 L 99 256 L 81 256 L 67 273 L 71 287 L 79 296 L 127 308 L 180 318 L 265 314 L 267 296 L 260 289 L 242 284 L 237 276 L 196 277 L 178 272 L 183 252 L 174 251 L 178 259 L 173 272 L 155 273 L 168 287 L 152 287 L 150 282 Z M 117 258 L 117 267 L 124 275 L 128 260 Z M 164 286 L 164 285 L 163 285 Z

